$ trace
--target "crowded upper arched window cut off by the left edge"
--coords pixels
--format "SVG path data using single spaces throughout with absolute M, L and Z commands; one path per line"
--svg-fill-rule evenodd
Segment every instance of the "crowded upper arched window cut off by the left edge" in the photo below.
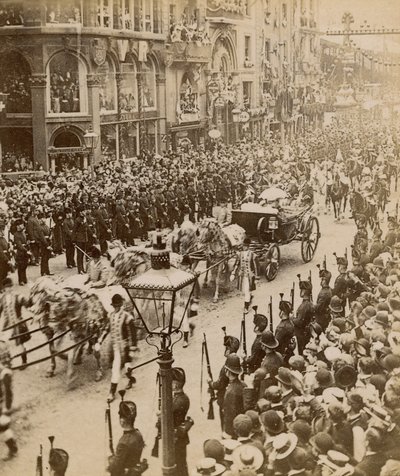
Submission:
M 31 71 L 23 56 L 10 51 L 0 56 L 0 91 L 7 94 L 8 113 L 32 112 Z

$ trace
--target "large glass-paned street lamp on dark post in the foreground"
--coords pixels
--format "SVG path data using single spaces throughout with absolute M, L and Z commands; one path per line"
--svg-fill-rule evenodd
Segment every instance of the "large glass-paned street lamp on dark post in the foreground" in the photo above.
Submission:
M 161 440 L 164 476 L 176 474 L 174 423 L 172 412 L 172 348 L 180 340 L 183 318 L 197 277 L 170 264 L 169 251 L 156 231 L 151 251 L 151 268 L 124 285 L 148 336 L 146 342 L 158 351 L 161 389 Z M 159 345 L 150 342 L 159 338 Z

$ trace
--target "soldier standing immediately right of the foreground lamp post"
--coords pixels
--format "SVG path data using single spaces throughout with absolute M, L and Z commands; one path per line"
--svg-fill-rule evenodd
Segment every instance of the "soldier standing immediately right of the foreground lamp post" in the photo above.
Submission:
M 180 367 L 172 369 L 172 412 L 175 430 L 175 463 L 177 476 L 189 476 L 186 461 L 186 447 L 189 444 L 189 430 L 193 420 L 187 417 L 189 397 L 183 391 L 186 382 L 185 371 Z

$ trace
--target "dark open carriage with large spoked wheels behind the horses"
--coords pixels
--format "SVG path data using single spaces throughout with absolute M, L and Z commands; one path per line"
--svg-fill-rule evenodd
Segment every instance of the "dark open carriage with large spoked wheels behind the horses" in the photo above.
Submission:
M 286 207 L 281 211 L 251 204 L 245 210 L 232 210 L 232 223 L 246 230 L 251 240 L 250 249 L 260 262 L 265 262 L 267 281 L 274 280 L 278 274 L 281 245 L 300 241 L 301 257 L 308 263 L 314 257 L 320 238 L 319 222 L 310 206 L 300 210 Z

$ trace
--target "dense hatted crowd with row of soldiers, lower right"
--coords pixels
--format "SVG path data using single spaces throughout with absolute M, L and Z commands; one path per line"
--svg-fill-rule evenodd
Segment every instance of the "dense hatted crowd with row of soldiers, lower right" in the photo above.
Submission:
M 392 240 L 398 224 L 389 223 L 395 230 L 378 256 L 375 235 L 367 253 L 353 246 L 351 268 L 336 256 L 332 287 L 326 262 L 319 267 L 314 301 L 309 279 L 299 280 L 295 313 L 294 300 L 281 295 L 274 332 L 254 306 L 249 356 L 243 336 L 225 335 L 225 364 L 209 380 L 222 439 L 204 442 L 193 474 L 398 474 L 400 240 Z

